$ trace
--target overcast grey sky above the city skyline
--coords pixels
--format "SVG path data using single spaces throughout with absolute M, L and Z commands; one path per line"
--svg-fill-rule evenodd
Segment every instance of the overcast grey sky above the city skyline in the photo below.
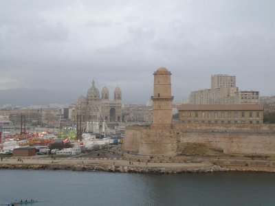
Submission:
M 144 103 L 153 72 L 173 73 L 176 101 L 236 76 L 274 95 L 275 1 L 0 1 L 0 89 L 86 95 L 94 78 Z

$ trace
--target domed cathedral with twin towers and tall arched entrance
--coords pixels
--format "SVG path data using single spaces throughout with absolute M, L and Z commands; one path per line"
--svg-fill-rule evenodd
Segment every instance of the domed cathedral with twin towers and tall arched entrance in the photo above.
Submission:
M 122 121 L 122 93 L 115 88 L 113 100 L 110 99 L 109 89 L 103 87 L 101 95 L 93 80 L 87 91 L 87 96 L 80 96 L 74 109 L 74 120 L 85 122 L 105 122 L 112 125 Z

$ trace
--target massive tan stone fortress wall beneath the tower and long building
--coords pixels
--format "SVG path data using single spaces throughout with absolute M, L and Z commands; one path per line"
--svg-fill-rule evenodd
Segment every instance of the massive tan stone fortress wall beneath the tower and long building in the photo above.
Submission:
M 126 128 L 123 150 L 140 155 L 275 155 L 275 125 L 170 124 Z

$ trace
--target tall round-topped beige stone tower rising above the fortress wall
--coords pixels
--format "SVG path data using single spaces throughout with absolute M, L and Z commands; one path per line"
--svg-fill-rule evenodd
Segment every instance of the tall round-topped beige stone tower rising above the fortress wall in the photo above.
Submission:
M 172 101 L 171 73 L 164 67 L 160 67 L 154 73 L 153 124 L 171 124 Z

